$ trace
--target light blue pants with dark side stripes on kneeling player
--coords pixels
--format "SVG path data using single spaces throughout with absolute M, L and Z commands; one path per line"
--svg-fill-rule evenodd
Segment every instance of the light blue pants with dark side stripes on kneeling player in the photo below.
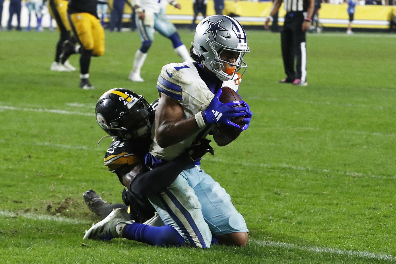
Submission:
M 175 228 L 191 247 L 210 247 L 211 234 L 248 232 L 230 195 L 198 166 L 183 171 L 149 200 L 164 224 Z

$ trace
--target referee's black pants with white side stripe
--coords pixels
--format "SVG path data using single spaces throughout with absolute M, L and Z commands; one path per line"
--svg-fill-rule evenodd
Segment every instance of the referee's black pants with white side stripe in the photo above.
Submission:
M 305 45 L 305 32 L 302 26 L 304 22 L 303 12 L 287 12 L 281 36 L 282 58 L 285 68 L 286 79 L 293 81 L 301 79 L 307 81 L 307 47 Z M 294 61 L 297 57 L 296 69 Z

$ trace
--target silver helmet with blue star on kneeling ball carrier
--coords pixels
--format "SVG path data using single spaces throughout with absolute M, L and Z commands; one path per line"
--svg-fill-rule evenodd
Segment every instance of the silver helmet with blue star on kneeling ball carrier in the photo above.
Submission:
M 211 15 L 203 19 L 196 27 L 194 42 L 191 45 L 192 52 L 199 57 L 202 64 L 222 81 L 238 80 L 247 68 L 243 60 L 245 53 L 249 52 L 246 33 L 242 25 L 232 17 Z M 239 53 L 235 64 L 220 59 L 224 51 Z M 223 72 L 223 63 L 235 66 L 234 72 Z

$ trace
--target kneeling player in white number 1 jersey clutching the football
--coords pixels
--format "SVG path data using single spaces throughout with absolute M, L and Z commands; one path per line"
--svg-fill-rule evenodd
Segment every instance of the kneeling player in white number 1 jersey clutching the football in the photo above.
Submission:
M 231 140 L 219 133 L 217 124 L 247 129 L 252 116 L 249 106 L 244 101 L 219 101 L 221 87 L 238 90 L 247 52 L 246 33 L 235 19 L 212 15 L 198 24 L 190 49 L 195 62 L 165 65 L 158 77 L 160 101 L 146 165 L 156 167 L 173 160 L 208 133 L 219 146 L 228 144 Z M 244 107 L 233 108 L 235 104 Z M 237 116 L 244 117 L 243 127 L 230 122 Z M 227 192 L 199 164 L 191 164 L 160 196 L 149 198 L 150 202 L 164 223 L 178 230 L 185 241 L 199 234 L 200 247 L 209 247 L 213 237 L 222 244 L 246 245 L 244 218 Z

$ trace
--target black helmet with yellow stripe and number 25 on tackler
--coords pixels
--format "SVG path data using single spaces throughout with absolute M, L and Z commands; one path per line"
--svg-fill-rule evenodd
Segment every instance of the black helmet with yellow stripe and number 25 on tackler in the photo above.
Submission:
M 104 93 L 95 108 L 96 121 L 110 136 L 134 140 L 150 135 L 154 111 L 146 99 L 132 91 L 115 88 Z

